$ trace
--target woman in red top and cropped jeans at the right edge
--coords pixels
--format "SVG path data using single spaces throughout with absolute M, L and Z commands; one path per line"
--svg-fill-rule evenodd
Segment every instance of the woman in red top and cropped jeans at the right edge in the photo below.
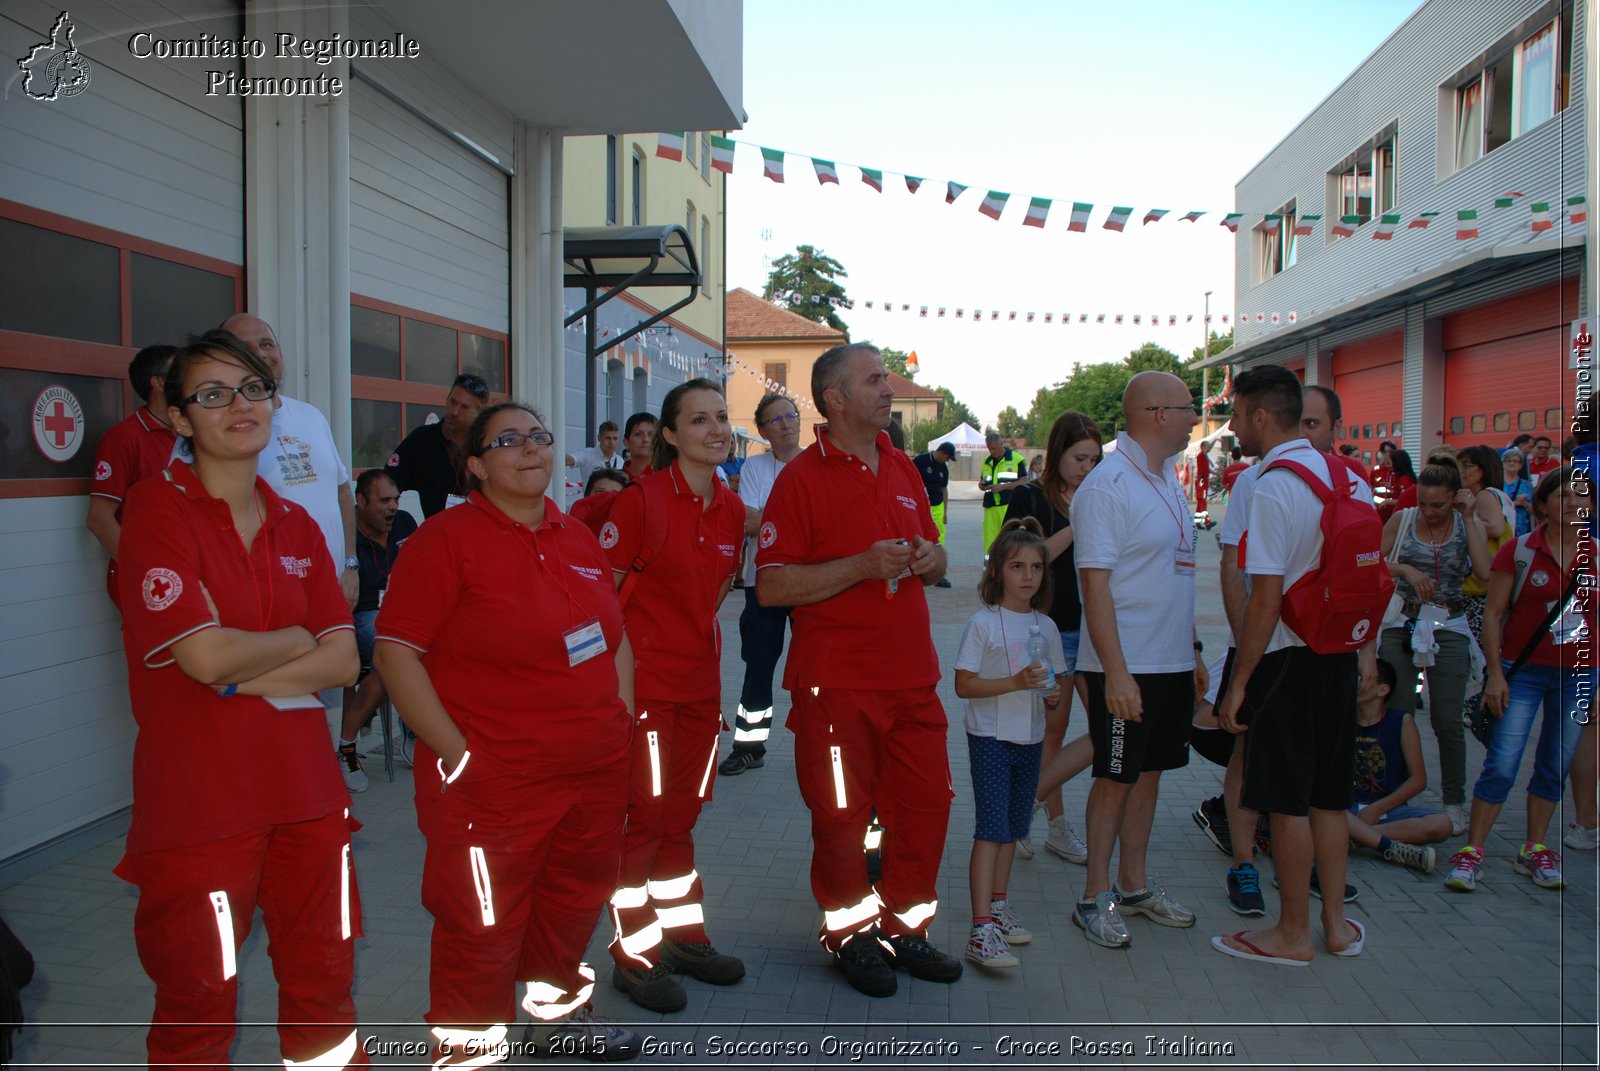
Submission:
M 1534 514 L 1544 519 L 1525 536 L 1501 548 L 1490 576 L 1483 612 L 1483 655 L 1488 660 L 1483 708 L 1494 716 L 1483 773 L 1472 788 L 1472 824 L 1467 844 L 1450 861 L 1445 885 L 1461 892 L 1477 888 L 1483 869 L 1483 845 L 1510 794 L 1522 756 L 1533 736 L 1534 719 L 1544 708 L 1539 743 L 1528 781 L 1526 839 L 1515 869 L 1534 885 L 1560 888 L 1562 856 L 1544 844 L 1550 818 L 1562 805 L 1566 772 L 1584 727 L 1594 720 L 1595 684 L 1595 543 L 1589 535 L 1594 488 L 1565 464 L 1544 474 L 1533 493 Z M 1517 588 L 1517 551 L 1531 562 Z M 1576 583 L 1587 580 L 1587 583 Z M 1555 618 L 1550 620 L 1550 612 Z M 1550 626 L 1541 636 L 1541 628 Z M 1528 660 L 1507 680 L 1506 671 L 1530 642 Z M 1592 730 L 1590 730 L 1592 732 Z

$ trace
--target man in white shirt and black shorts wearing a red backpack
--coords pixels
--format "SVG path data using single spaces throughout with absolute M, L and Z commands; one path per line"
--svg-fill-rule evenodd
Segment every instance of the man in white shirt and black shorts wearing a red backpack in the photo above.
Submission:
M 1304 967 L 1312 861 L 1320 887 L 1344 888 L 1355 768 L 1355 700 L 1376 680 L 1373 640 L 1392 584 L 1371 488 L 1301 429 L 1294 373 L 1251 368 L 1234 383 L 1232 431 L 1259 455 L 1238 564 L 1250 594 L 1218 716 L 1245 736 L 1243 804 L 1270 815 L 1282 906 L 1270 930 L 1216 937 L 1227 956 Z M 1366 933 L 1323 897 L 1328 951 L 1358 956 Z

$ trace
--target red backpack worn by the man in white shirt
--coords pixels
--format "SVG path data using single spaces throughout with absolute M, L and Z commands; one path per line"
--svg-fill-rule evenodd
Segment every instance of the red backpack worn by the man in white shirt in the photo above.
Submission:
M 1334 455 L 1328 461 L 1330 488 L 1298 461 L 1278 458 L 1261 471 L 1285 469 L 1306 480 L 1322 501 L 1322 560 L 1283 592 L 1283 623 L 1318 655 L 1358 650 L 1374 639 L 1395 583 L 1384 565 L 1384 525 L 1371 503 L 1355 498 L 1349 469 Z M 1344 475 L 1346 479 L 1338 479 Z M 1258 477 L 1259 480 L 1259 477 Z M 1240 567 L 1243 567 L 1243 546 Z

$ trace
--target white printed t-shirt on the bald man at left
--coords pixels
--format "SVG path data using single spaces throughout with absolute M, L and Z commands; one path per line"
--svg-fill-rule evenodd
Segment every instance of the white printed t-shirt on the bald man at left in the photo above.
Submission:
M 278 394 L 283 405 L 272 410 L 272 439 L 256 461 L 256 474 L 280 498 L 298 503 L 322 528 L 333 557 L 333 572 L 344 570 L 344 511 L 339 488 L 349 485 L 350 471 L 333 445 L 333 429 L 315 405 Z M 187 443 L 173 443 L 173 461 L 192 461 Z

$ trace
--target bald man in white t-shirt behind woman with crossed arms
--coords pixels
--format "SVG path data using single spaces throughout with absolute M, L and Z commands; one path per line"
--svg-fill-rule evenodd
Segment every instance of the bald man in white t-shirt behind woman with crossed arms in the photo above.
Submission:
M 360 560 L 355 557 L 355 495 L 350 471 L 333 443 L 333 429 L 317 407 L 285 395 L 283 352 L 270 323 L 240 312 L 222 320 L 221 330 L 261 357 L 278 383 L 278 392 L 272 395 L 272 442 L 261 451 L 256 471 L 280 496 L 302 506 L 322 528 L 339 586 L 355 607 L 362 592 Z

